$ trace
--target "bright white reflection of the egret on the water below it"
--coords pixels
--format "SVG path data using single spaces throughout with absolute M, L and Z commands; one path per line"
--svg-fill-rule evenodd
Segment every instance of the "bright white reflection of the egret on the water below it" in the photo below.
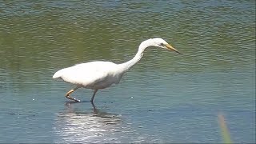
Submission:
M 66 103 L 66 110 L 58 114 L 54 130 L 57 142 L 118 142 L 118 133 L 122 132 L 120 115 L 98 110 L 84 112 L 74 107 L 74 102 Z

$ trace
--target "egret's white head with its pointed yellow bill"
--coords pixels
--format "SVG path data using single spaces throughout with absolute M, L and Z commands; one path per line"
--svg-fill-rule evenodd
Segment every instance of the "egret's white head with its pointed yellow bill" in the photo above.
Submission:
M 168 44 L 162 38 L 152 38 L 152 39 L 150 39 L 150 43 L 151 43 L 152 46 L 161 47 L 161 48 L 164 48 L 164 49 L 167 49 L 167 50 L 173 50 L 178 54 L 182 54 L 178 50 L 176 50 L 173 46 L 170 46 L 170 44 Z

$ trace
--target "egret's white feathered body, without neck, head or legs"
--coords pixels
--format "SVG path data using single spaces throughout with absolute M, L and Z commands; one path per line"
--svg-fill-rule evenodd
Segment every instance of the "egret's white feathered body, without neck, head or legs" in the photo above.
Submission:
M 65 82 L 99 90 L 119 82 L 121 70 L 118 68 L 113 62 L 87 62 L 58 70 L 53 78 L 62 78 Z

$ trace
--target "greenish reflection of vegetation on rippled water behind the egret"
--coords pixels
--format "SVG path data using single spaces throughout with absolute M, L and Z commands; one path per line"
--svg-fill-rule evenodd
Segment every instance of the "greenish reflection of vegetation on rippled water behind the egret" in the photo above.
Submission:
M 134 71 L 196 73 L 249 65 L 254 70 L 251 50 L 255 47 L 255 21 L 247 18 L 254 10 L 234 13 L 237 9 L 218 3 L 200 7 L 202 3 L 182 2 L 176 8 L 157 1 L 4 1 L 0 12 L 0 67 L 11 78 L 22 76 L 21 83 L 38 82 L 40 74 L 46 72 L 50 78 L 54 71 L 74 63 L 125 62 L 134 56 L 142 40 L 162 37 L 184 56 L 146 50 L 143 64 L 135 66 Z M 202 8 L 219 11 L 214 15 Z M 227 13 L 234 16 L 232 21 L 231 16 L 222 18 Z M 246 19 L 241 21 L 238 17 L 244 18 L 244 14 Z

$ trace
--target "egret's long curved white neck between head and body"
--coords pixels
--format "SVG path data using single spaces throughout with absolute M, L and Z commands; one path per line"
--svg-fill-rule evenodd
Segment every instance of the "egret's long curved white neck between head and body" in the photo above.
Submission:
M 133 67 L 136 63 L 139 62 L 139 60 L 142 59 L 143 57 L 143 52 L 144 50 L 146 50 L 146 48 L 148 46 L 150 46 L 150 39 L 142 42 L 139 46 L 138 46 L 138 52 L 137 54 L 134 56 L 134 58 L 132 58 L 130 61 L 128 62 L 124 62 L 122 64 L 119 64 L 121 66 L 121 69 L 123 72 L 126 72 L 127 70 L 130 70 L 131 67 Z

